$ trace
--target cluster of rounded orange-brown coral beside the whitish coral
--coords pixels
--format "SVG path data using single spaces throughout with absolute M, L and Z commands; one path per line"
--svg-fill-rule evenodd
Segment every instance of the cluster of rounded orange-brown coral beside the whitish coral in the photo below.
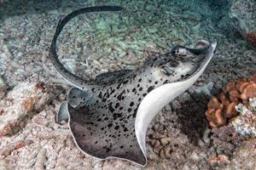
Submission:
M 210 127 L 220 127 L 230 118 L 237 116 L 235 106 L 248 105 L 248 99 L 256 97 L 256 73 L 251 77 L 241 77 L 236 82 L 227 82 L 218 98 L 212 96 L 207 105 L 206 116 Z

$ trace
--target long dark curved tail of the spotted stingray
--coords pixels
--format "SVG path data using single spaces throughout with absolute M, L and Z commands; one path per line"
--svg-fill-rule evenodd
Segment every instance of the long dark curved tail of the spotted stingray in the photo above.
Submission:
M 58 55 L 56 53 L 56 42 L 57 38 L 61 34 L 61 31 L 64 26 L 66 26 L 67 22 L 71 19 L 73 19 L 75 16 L 79 14 L 84 13 L 91 13 L 91 12 L 100 12 L 100 11 L 120 11 L 122 10 L 121 7 L 118 6 L 98 6 L 98 7 L 88 7 L 88 8 L 80 8 L 78 10 L 73 11 L 70 14 L 67 14 L 65 18 L 59 21 L 58 26 L 55 30 L 55 35 L 52 39 L 52 42 L 50 44 L 49 48 L 49 60 L 51 64 L 54 66 L 55 71 L 57 71 L 61 77 L 63 77 L 67 82 L 71 83 L 76 88 L 80 89 L 87 89 L 90 85 L 94 85 L 95 81 L 90 80 L 84 80 L 81 77 L 77 77 L 72 72 L 68 71 L 64 65 L 61 64 L 61 61 L 58 58 Z

